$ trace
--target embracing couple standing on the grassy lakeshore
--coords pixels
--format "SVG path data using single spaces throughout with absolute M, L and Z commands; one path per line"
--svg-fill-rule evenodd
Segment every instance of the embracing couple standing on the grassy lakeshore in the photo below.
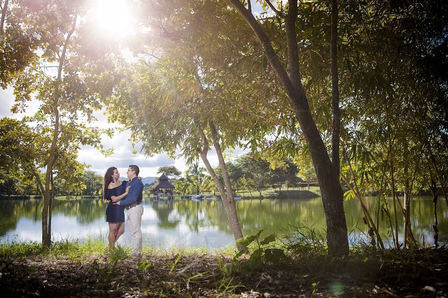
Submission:
M 120 173 L 116 167 L 106 171 L 103 181 L 103 200 L 109 202 L 106 209 L 106 221 L 109 223 L 109 248 L 124 233 L 124 209 L 126 209 L 128 230 L 132 236 L 132 255 L 141 253 L 141 216 L 143 215 L 143 183 L 138 177 L 138 166 L 129 165 L 127 169 L 128 182 L 118 181 Z

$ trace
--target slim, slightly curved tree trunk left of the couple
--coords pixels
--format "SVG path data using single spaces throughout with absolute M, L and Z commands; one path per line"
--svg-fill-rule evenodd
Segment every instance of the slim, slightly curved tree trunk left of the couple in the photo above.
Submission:
M 42 209 L 42 245 L 44 247 L 49 248 L 51 245 L 51 226 L 49 225 L 49 208 L 50 208 L 50 180 L 51 180 L 51 172 L 53 171 L 53 164 L 56 158 L 56 144 L 58 142 L 59 136 L 59 111 L 58 111 L 58 102 L 59 102 L 59 84 L 61 81 L 62 67 L 64 65 L 65 52 L 67 51 L 67 46 L 70 40 L 70 36 L 75 31 L 77 14 L 75 13 L 75 17 L 73 20 L 72 28 L 70 32 L 67 34 L 67 37 L 64 42 L 64 47 L 62 49 L 61 57 L 59 59 L 59 67 L 58 67 L 58 76 L 55 82 L 55 91 L 54 91 L 54 103 L 53 103 L 53 113 L 55 115 L 54 122 L 54 132 L 53 132 L 53 141 L 51 142 L 50 151 L 48 152 L 48 163 L 47 163 L 47 171 L 45 173 L 45 189 L 42 193 L 44 197 L 44 206 Z

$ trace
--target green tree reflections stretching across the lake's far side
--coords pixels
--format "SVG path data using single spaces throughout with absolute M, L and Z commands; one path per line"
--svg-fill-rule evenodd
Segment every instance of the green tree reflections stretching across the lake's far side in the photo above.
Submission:
M 370 213 L 376 215 L 378 201 L 376 198 L 364 198 Z M 416 239 L 420 243 L 432 243 L 432 213 L 433 203 L 430 197 L 415 197 L 411 204 L 411 225 Z M 34 223 L 41 221 L 42 200 L 2 200 L 0 201 L 0 235 L 17 228 L 20 218 L 26 218 Z M 107 205 L 101 200 L 55 200 L 53 216 L 62 214 L 68 218 L 76 218 L 82 225 L 105 219 Z M 151 208 L 157 215 L 159 228 L 175 229 L 182 222 L 191 231 L 197 233 L 201 229 L 215 228 L 226 234 L 231 234 L 221 201 L 194 202 L 186 201 L 154 201 Z M 293 226 L 305 224 L 324 232 L 326 228 L 325 214 L 321 198 L 308 200 L 242 200 L 236 202 L 238 218 L 245 235 L 266 228 L 266 233 L 285 234 L 287 230 L 294 230 Z M 347 227 L 366 232 L 366 225 L 362 222 L 362 213 L 354 200 L 344 203 Z M 448 210 L 443 204 L 438 205 L 438 217 L 447 219 Z M 393 215 L 392 215 L 393 218 Z M 398 217 L 400 233 L 403 231 L 403 217 Z M 376 220 L 375 220 L 376 222 Z M 447 242 L 448 224 L 439 222 L 440 239 Z M 387 217 L 379 220 L 379 230 L 387 235 L 390 229 Z

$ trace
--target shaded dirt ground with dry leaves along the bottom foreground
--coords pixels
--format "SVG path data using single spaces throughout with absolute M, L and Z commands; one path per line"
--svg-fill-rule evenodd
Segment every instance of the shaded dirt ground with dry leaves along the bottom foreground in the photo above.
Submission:
M 3 297 L 448 297 L 446 249 L 322 258 L 257 269 L 210 254 L 2 258 L 0 289 Z

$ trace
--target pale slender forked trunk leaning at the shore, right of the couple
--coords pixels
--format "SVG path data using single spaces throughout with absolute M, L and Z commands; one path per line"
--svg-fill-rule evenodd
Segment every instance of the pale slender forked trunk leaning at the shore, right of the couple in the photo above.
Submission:
M 219 140 L 218 140 L 218 136 L 217 136 L 218 133 L 216 131 L 215 125 L 213 124 L 212 121 L 210 121 L 210 128 L 212 130 L 212 135 L 215 134 L 215 136 L 213 137 L 213 143 L 214 143 L 215 149 L 217 150 L 218 159 L 220 161 L 221 170 L 223 172 L 225 190 L 224 190 L 223 184 L 221 183 L 220 179 L 218 178 L 218 175 L 216 174 L 215 170 L 210 165 L 210 162 L 207 158 L 207 152 L 209 151 L 209 142 L 207 140 L 207 137 L 204 134 L 204 130 L 202 129 L 199 122 L 196 122 L 196 124 L 198 127 L 198 131 L 201 134 L 201 137 L 204 142 L 204 148 L 202 150 L 198 149 L 199 154 L 200 154 L 202 160 L 204 161 L 204 164 L 206 165 L 207 170 L 209 171 L 210 175 L 212 176 L 213 180 L 215 181 L 218 191 L 220 192 L 221 199 L 223 200 L 224 209 L 225 209 L 225 212 L 227 213 L 227 218 L 228 218 L 228 221 L 229 221 L 230 226 L 233 231 L 233 236 L 235 237 L 235 240 L 238 240 L 238 239 L 242 238 L 243 235 L 241 232 L 241 226 L 239 225 L 239 220 L 238 220 L 238 216 L 236 213 L 236 206 L 235 206 L 235 200 L 233 199 L 232 188 L 231 188 L 231 185 L 229 184 L 230 179 L 228 178 L 227 167 L 225 166 L 223 154 L 221 152 L 221 146 L 219 144 Z M 238 249 L 238 251 L 243 251 L 246 247 L 242 243 L 236 243 L 236 248 Z

